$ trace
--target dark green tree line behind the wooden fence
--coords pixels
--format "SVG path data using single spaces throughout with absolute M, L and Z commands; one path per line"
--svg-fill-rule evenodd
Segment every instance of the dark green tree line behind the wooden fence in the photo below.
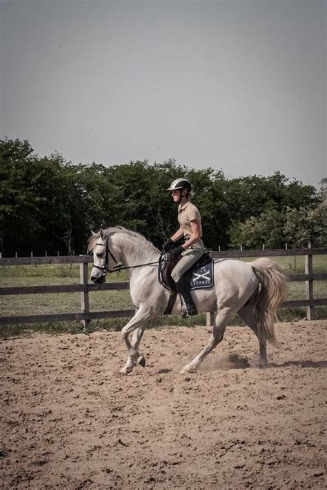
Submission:
M 281 172 L 226 178 L 221 170 L 190 170 L 174 159 L 73 165 L 59 153 L 38 156 L 28 141 L 3 139 L 2 256 L 83 254 L 91 230 L 117 225 L 161 248 L 178 226 L 166 189 L 179 176 L 192 183 L 210 249 L 327 245 L 326 178 L 316 190 Z

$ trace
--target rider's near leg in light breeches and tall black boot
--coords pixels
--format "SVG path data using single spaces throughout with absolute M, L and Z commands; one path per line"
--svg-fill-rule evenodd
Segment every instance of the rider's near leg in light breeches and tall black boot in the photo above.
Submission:
M 181 256 L 181 260 L 172 269 L 172 279 L 175 281 L 178 292 L 184 299 L 187 314 L 183 316 L 193 316 L 197 315 L 197 307 L 193 301 L 192 295 L 190 293 L 190 284 L 186 280 L 185 274 L 192 265 L 194 265 L 199 258 L 204 254 L 204 246 L 202 243 L 195 243 L 192 247 L 186 249 Z

